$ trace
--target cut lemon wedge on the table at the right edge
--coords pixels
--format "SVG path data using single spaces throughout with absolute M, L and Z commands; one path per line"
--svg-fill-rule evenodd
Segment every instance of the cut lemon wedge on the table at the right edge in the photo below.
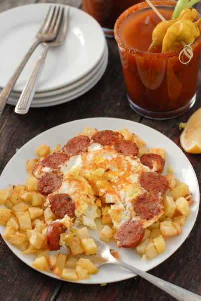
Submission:
M 188 153 L 201 153 L 201 108 L 195 111 L 188 119 L 180 135 L 180 143 Z

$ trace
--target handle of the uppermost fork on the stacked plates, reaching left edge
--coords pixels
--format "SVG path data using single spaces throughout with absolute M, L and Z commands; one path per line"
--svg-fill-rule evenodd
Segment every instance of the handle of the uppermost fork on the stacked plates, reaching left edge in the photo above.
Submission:
M 24 66 L 26 65 L 27 61 L 29 60 L 31 54 L 33 53 L 33 51 L 35 50 L 35 48 L 41 43 L 41 41 L 36 40 L 33 45 L 30 47 L 30 49 L 28 50 L 28 52 L 26 53 L 26 55 L 24 56 L 23 60 L 21 61 L 21 63 L 19 64 L 19 66 L 17 67 L 17 69 L 14 71 L 13 75 L 11 76 L 11 78 L 9 79 L 8 83 L 5 85 L 5 87 L 2 89 L 1 93 L 0 93 L 0 118 L 2 116 L 3 113 L 3 109 L 7 103 L 7 100 L 10 96 L 10 93 L 17 81 L 17 79 L 19 78 L 19 75 L 21 74 L 21 71 L 23 70 Z

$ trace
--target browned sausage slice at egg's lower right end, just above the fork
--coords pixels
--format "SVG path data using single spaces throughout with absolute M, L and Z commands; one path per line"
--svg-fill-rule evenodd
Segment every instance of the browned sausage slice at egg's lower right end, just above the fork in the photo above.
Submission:
M 120 226 L 116 233 L 116 244 L 119 248 L 135 248 L 144 236 L 142 224 L 137 221 L 127 221 Z

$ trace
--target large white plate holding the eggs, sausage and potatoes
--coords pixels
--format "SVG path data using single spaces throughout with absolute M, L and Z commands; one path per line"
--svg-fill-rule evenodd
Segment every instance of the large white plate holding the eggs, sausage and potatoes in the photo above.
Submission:
M 18 150 L 2 172 L 0 177 L 0 189 L 7 187 L 9 184 L 16 185 L 18 183 L 25 183 L 27 178 L 26 160 L 35 158 L 34 151 L 38 146 L 46 144 L 53 148 L 59 143 L 63 146 L 69 139 L 76 136 L 78 133 L 81 133 L 86 126 L 96 128 L 97 130 L 123 130 L 124 128 L 127 128 L 130 132 L 133 132 L 142 138 L 146 142 L 146 146 L 148 148 L 164 148 L 166 150 L 164 174 L 167 173 L 168 166 L 171 164 L 174 169 L 175 177 L 188 184 L 192 193 L 194 203 L 190 206 L 191 214 L 187 217 L 186 223 L 182 227 L 182 233 L 166 239 L 166 249 L 164 253 L 158 255 L 152 260 L 142 261 L 135 249 L 118 249 L 114 243 L 111 243 L 111 248 L 119 251 L 121 260 L 137 267 L 138 269 L 148 271 L 162 263 L 181 246 L 195 223 L 199 209 L 199 185 L 191 163 L 174 142 L 158 131 L 140 123 L 115 118 L 89 118 L 61 124 L 36 136 Z M 20 171 L 20 173 L 18 171 Z M 0 226 L 1 234 L 3 233 L 3 229 L 4 227 Z M 98 238 L 98 233 L 96 231 L 91 231 L 90 233 L 93 233 L 93 236 Z M 6 240 L 5 242 L 14 254 L 16 254 L 27 265 L 32 267 L 34 257 L 31 254 L 22 256 L 17 248 L 9 244 Z M 42 273 L 58 279 L 58 277 L 52 273 Z M 135 275 L 133 275 L 130 271 L 119 266 L 103 265 L 100 267 L 99 272 L 96 275 L 91 275 L 90 279 L 79 280 L 76 281 L 76 283 L 102 284 L 125 280 L 133 276 Z

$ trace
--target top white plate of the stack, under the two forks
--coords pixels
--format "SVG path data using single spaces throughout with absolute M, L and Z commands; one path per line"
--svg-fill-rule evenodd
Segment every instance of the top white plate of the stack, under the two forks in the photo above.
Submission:
M 35 41 L 50 4 L 29 4 L 0 14 L 0 87 L 4 87 L 23 56 Z M 6 26 L 5 26 L 6 25 Z M 39 45 L 14 87 L 22 91 L 43 50 Z M 49 49 L 37 91 L 66 86 L 90 72 L 105 49 L 99 23 L 84 11 L 71 7 L 65 42 Z

